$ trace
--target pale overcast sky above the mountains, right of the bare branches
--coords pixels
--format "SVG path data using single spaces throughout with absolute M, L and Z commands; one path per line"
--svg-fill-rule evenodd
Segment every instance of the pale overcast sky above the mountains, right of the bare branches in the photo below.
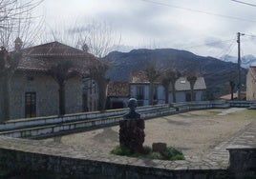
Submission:
M 125 50 L 172 48 L 203 56 L 256 56 L 256 1 L 241 0 L 45 0 L 51 27 L 105 21 L 121 34 Z M 254 6 L 255 5 L 255 6 Z M 124 50 L 119 49 L 119 50 Z

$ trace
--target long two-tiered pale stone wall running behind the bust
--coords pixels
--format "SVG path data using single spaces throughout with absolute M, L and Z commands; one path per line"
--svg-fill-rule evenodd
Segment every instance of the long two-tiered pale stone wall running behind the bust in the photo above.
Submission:
M 143 119 L 176 112 L 175 109 L 168 108 L 166 105 L 141 108 L 139 110 Z M 61 117 L 11 120 L 0 124 L 0 134 L 11 137 L 37 138 L 57 133 L 63 134 L 63 132 L 74 132 L 79 129 L 102 128 L 116 125 L 117 122 L 123 119 L 122 115 L 127 111 L 128 109 L 108 110 L 107 112 L 89 112 Z

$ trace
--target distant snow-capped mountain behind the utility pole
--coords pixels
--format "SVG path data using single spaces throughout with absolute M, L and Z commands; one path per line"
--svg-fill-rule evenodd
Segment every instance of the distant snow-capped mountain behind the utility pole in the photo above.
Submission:
M 221 60 L 224 62 L 232 62 L 237 64 L 237 57 L 230 56 L 230 55 L 224 55 L 221 57 Z M 241 67 L 248 69 L 250 66 L 256 65 L 256 57 L 248 54 L 241 57 Z

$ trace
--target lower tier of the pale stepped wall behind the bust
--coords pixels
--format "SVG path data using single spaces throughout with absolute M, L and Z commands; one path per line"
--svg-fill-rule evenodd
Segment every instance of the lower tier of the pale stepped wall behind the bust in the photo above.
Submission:
M 38 137 L 56 135 L 63 132 L 72 132 L 78 129 L 95 129 L 100 127 L 117 125 L 117 123 L 123 119 L 122 117 L 123 115 L 117 115 L 117 114 L 120 114 L 120 113 L 124 114 L 127 112 L 126 109 L 117 110 L 117 111 L 114 110 L 112 112 L 102 113 L 100 114 L 100 117 L 93 118 L 93 119 L 87 118 L 87 119 L 80 119 L 80 120 L 72 120 L 73 118 L 71 118 L 69 120 L 69 117 L 64 116 L 67 119 L 66 121 L 63 121 L 63 118 L 61 118 L 63 122 L 55 121 L 55 123 L 53 124 L 52 122 L 54 122 L 54 120 L 61 121 L 61 119 L 49 118 L 48 124 L 50 125 L 44 125 L 45 123 L 40 124 L 38 122 L 38 124 L 40 125 L 37 125 L 35 127 L 29 126 L 26 128 L 9 129 L 9 130 L 0 131 L 0 135 L 18 137 L 18 138 L 38 138 Z M 143 119 L 158 117 L 162 115 L 169 115 L 176 112 L 175 109 L 168 108 L 168 106 L 167 107 L 156 106 L 153 108 L 149 107 L 148 109 L 140 109 L 140 111 L 141 111 L 141 118 Z M 99 116 L 99 114 L 96 116 Z M 79 118 L 79 115 L 75 115 L 75 117 Z M 41 119 L 39 119 L 39 121 L 40 120 Z M 22 121 L 22 124 L 23 124 L 23 121 Z

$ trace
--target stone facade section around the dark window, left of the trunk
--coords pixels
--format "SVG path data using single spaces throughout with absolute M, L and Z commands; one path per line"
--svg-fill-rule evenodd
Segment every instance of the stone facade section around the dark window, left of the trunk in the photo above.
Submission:
M 16 73 L 11 79 L 11 119 L 25 118 L 25 92 L 36 92 L 36 116 L 57 114 L 57 89 L 50 76 Z

